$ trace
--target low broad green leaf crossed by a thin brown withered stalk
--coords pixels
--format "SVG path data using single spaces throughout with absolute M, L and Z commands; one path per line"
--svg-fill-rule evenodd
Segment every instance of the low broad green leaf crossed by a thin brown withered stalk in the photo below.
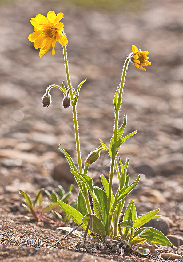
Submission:
M 88 225 L 89 218 L 90 218 L 90 214 L 84 216 L 83 219 L 82 219 L 82 221 L 83 221 L 83 223 L 85 224 L 86 227 Z M 105 225 L 102 223 L 102 221 L 99 218 L 97 218 L 94 215 L 93 215 L 92 227 L 93 227 L 93 232 L 101 235 L 103 241 L 105 241 L 105 237 L 106 237 Z M 90 228 L 90 230 L 91 230 L 91 228 Z

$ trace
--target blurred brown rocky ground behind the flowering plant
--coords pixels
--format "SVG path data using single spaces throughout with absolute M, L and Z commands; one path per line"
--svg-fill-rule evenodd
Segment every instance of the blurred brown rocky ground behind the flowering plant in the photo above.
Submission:
M 131 45 L 149 51 L 152 65 L 146 72 L 129 66 L 120 124 L 127 113 L 125 135 L 138 132 L 119 154 L 123 162 L 130 159 L 131 182 L 142 174 L 130 195 L 137 211 L 161 207 L 161 214 L 172 218 L 172 227 L 183 231 L 181 0 L 0 1 L 0 200 L 11 193 L 14 204 L 18 188 L 35 193 L 42 186 L 51 190 L 58 183 L 65 188 L 73 183 L 66 159 L 57 149 L 61 144 L 76 160 L 71 108 L 63 108 L 56 88 L 51 90 L 48 108 L 41 102 L 48 85 L 66 83 L 62 46 L 57 43 L 54 56 L 49 51 L 40 58 L 28 40 L 33 32 L 30 19 L 50 10 L 64 13 L 73 87 L 87 78 L 78 102 L 83 162 L 100 145 L 99 138 L 109 144 L 113 96 Z M 109 157 L 103 152 L 90 167 L 96 182 L 101 173 L 109 173 Z

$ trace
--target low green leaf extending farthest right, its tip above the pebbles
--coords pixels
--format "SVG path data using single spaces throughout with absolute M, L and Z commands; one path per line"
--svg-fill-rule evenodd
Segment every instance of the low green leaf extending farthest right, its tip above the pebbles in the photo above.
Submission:
M 170 247 L 172 243 L 169 241 L 169 239 L 161 233 L 159 230 L 153 228 L 153 227 L 145 227 L 151 230 L 151 232 L 145 232 L 141 235 L 142 238 L 146 238 L 147 241 L 157 244 L 157 245 L 162 245 L 162 246 L 168 246 Z M 144 229 L 144 228 L 141 228 Z

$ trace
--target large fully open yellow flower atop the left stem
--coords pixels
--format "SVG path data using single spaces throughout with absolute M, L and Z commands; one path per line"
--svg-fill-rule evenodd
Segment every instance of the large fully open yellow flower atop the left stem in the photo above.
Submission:
M 34 33 L 29 35 L 29 41 L 34 42 L 34 47 L 36 49 L 41 48 L 39 56 L 42 57 L 50 49 L 51 45 L 52 55 L 55 54 L 55 43 L 58 42 L 65 46 L 68 44 L 67 37 L 61 30 L 64 28 L 63 23 L 60 20 L 64 17 L 62 13 L 50 11 L 47 17 L 38 14 L 36 17 L 30 20 L 30 23 L 34 27 Z

